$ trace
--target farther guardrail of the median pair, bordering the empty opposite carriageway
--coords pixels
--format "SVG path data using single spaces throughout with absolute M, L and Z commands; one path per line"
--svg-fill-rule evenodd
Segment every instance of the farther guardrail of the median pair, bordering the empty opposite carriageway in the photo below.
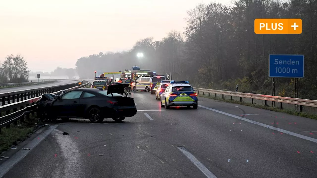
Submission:
M 66 79 L 63 79 L 63 80 L 66 80 Z M 68 79 L 68 80 L 75 80 L 75 79 Z M 83 82 L 83 80 L 78 80 L 78 82 Z M 47 86 L 42 88 L 34 88 L 29 90 L 19 90 L 15 92 L 0 93 L 0 99 L 1 99 L 2 106 L 8 105 L 10 103 L 15 103 L 18 101 L 30 99 L 36 96 L 41 96 L 43 93 L 52 93 L 52 92 L 57 92 L 60 90 L 65 90 L 67 88 L 71 88 L 74 86 L 78 86 L 78 82 L 63 84 L 63 85 L 56 85 L 56 86 Z M 1 113 L 0 113 L 0 117 L 1 117 Z

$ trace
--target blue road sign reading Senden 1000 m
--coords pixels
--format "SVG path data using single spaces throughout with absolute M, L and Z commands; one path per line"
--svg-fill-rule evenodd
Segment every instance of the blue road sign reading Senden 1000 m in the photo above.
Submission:
M 270 54 L 268 61 L 268 76 L 303 78 L 304 55 Z

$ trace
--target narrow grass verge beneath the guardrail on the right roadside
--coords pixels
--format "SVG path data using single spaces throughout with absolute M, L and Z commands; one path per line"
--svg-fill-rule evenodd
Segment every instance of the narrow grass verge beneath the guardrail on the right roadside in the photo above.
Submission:
M 251 107 L 256 107 L 256 108 L 261 108 L 261 109 L 266 109 L 266 110 L 276 111 L 276 112 L 283 112 L 283 113 L 286 113 L 286 114 L 291 114 L 291 115 L 295 115 L 295 116 L 300 116 L 300 117 L 304 117 L 304 118 L 310 118 L 310 119 L 316 119 L 317 120 L 317 114 L 299 112 L 299 111 L 290 110 L 290 109 L 280 109 L 280 108 L 276 108 L 276 107 L 272 107 L 272 106 L 268 106 L 268 105 L 264 106 L 264 105 L 245 103 L 245 102 L 240 102 L 240 101 L 235 101 L 235 100 L 227 100 L 227 99 L 222 99 L 222 98 L 215 98 L 215 97 L 212 97 L 212 96 L 206 96 L 206 95 L 201 95 L 201 94 L 199 94 L 198 96 L 199 97 L 208 98 L 208 99 L 214 99 L 214 100 L 218 100 L 218 101 L 223 101 L 223 102 L 226 102 L 226 103 L 234 103 L 234 104 L 238 104 L 238 105 L 251 106 Z

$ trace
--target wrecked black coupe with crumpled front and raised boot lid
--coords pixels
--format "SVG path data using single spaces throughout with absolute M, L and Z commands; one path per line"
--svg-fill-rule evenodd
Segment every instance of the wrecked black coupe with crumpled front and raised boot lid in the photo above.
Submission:
M 43 117 L 86 118 L 92 123 L 100 123 L 104 118 L 122 121 L 137 113 L 133 98 L 127 97 L 124 92 L 127 85 L 112 83 L 108 90 L 79 88 L 43 94 L 37 104 Z

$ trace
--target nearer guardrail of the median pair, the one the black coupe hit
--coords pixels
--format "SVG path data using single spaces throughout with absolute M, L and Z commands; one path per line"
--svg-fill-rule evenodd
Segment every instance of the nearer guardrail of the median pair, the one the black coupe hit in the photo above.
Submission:
M 81 85 L 77 85 L 68 89 L 64 89 L 64 91 L 69 91 L 69 90 L 73 90 L 76 88 L 83 88 L 89 85 L 89 81 L 84 80 L 82 81 L 83 84 Z M 59 91 L 53 92 L 53 93 L 57 93 Z M 4 105 L 4 106 L 0 106 L 0 113 L 5 111 L 6 115 L 3 117 L 0 117 L 0 133 L 1 133 L 1 128 L 3 127 L 10 127 L 10 124 L 13 123 L 14 125 L 17 125 L 17 121 L 24 121 L 24 116 L 26 117 L 26 119 L 29 119 L 29 114 L 34 115 L 35 112 L 37 111 L 37 105 L 35 104 L 35 102 L 40 99 L 41 97 L 36 97 L 36 98 L 32 98 L 32 99 L 28 99 L 28 100 L 23 100 L 20 102 L 16 102 L 16 103 L 12 103 L 9 105 Z M 26 106 L 26 107 L 25 107 Z M 20 108 L 20 110 L 17 110 L 17 108 Z M 13 109 L 13 112 L 10 113 L 10 111 Z

